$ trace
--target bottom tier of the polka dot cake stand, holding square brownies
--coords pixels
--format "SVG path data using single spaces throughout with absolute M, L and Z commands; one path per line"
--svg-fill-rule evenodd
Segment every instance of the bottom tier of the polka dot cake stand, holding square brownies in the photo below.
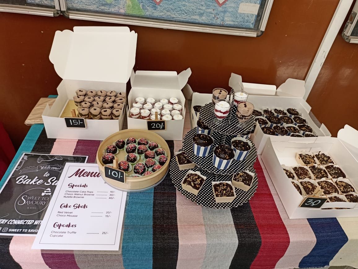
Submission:
M 179 151 L 182 151 L 182 149 Z M 223 174 L 209 173 L 207 170 L 203 170 L 197 165 L 195 168 L 191 170 L 199 171 L 203 176 L 207 178 L 204 181 L 204 184 L 200 189 L 199 193 L 197 195 L 194 195 L 191 192 L 185 191 L 181 185 L 181 182 L 185 174 L 187 174 L 188 172 L 188 169 L 179 170 L 178 164 L 176 163 L 175 156 L 171 157 L 169 166 L 170 166 L 171 181 L 173 182 L 176 189 L 178 189 L 178 191 L 180 191 L 185 197 L 187 197 L 187 199 L 201 206 L 218 208 L 218 209 L 242 206 L 244 203 L 247 203 L 252 198 L 253 194 L 255 194 L 257 189 L 258 179 L 255 169 L 253 167 L 250 167 L 248 169 L 239 169 L 236 172 L 249 170 L 250 172 L 255 173 L 255 177 L 252 180 L 250 189 L 246 192 L 243 191 L 242 189 L 235 188 L 236 198 L 234 201 L 232 201 L 231 203 L 216 203 L 214 198 L 213 188 L 212 188 L 212 182 L 231 181 L 232 175 L 229 176 Z

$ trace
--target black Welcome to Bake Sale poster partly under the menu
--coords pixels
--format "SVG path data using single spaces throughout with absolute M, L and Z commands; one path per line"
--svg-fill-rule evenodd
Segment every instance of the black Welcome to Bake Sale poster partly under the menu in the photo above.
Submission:
M 87 156 L 24 153 L 0 191 L 0 235 L 36 235 L 66 162 Z

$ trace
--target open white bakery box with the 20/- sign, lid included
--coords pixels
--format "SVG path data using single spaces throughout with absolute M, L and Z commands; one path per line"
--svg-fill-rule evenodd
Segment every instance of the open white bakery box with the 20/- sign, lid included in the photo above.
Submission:
M 153 97 L 156 101 L 175 97 L 183 105 L 182 120 L 165 121 L 165 130 L 154 131 L 166 140 L 182 140 L 185 120 L 185 97 L 182 89 L 187 85 L 192 71 L 190 68 L 180 72 L 175 71 L 132 71 L 131 90 L 128 95 L 127 124 L 128 129 L 147 130 L 147 121 L 130 117 L 129 110 L 137 97 Z M 189 85 L 187 85 L 189 86 Z

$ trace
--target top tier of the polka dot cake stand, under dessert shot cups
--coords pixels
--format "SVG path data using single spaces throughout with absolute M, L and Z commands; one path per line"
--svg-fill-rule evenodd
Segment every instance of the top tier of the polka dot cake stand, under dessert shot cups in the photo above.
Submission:
M 231 135 L 244 135 L 250 134 L 251 130 L 255 126 L 255 116 L 251 116 L 248 121 L 241 124 L 236 116 L 237 106 L 232 105 L 229 115 L 217 123 L 216 116 L 214 114 L 214 104 L 209 103 L 204 105 L 200 109 L 200 119 L 209 128 L 219 133 L 231 134 Z

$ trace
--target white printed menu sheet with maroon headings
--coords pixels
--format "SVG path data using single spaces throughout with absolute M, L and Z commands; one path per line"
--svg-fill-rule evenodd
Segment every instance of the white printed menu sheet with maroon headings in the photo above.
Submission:
M 32 248 L 118 250 L 126 196 L 97 164 L 67 163 Z

